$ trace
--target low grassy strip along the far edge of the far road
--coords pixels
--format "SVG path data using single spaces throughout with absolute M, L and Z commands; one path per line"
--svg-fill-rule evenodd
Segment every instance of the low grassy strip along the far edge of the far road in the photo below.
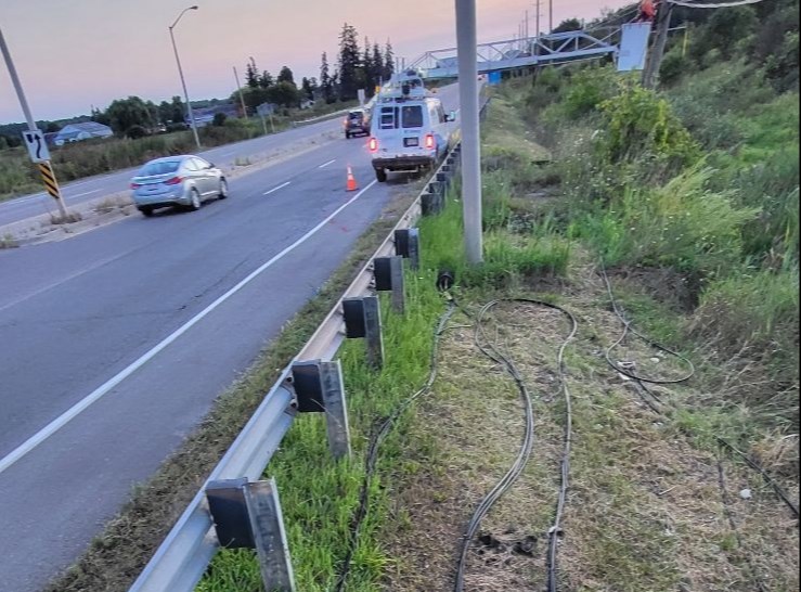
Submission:
M 289 115 L 275 115 L 273 117 L 275 131 L 290 128 L 293 121 L 334 113 L 350 104 L 352 103 L 321 104 L 307 111 L 289 112 Z M 271 132 L 269 119 L 267 125 Z M 250 117 L 247 120 L 228 119 L 222 126 L 206 126 L 199 129 L 201 143 L 206 149 L 250 140 L 263 134 L 264 128 L 258 117 Z M 151 158 L 196 151 L 192 131 L 186 130 L 137 140 L 127 138 L 87 140 L 51 147 L 51 155 L 59 181 L 66 183 L 93 175 L 135 167 Z M 0 151 L 0 201 L 39 190 L 41 182 L 38 171 L 30 164 L 25 147 Z

